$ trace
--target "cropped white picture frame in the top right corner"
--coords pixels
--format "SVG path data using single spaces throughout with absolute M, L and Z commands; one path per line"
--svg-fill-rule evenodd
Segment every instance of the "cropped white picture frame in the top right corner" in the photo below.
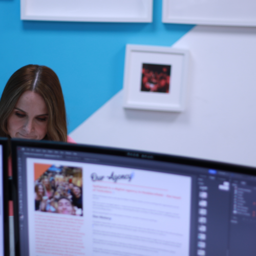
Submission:
M 253 0 L 163 0 L 162 22 L 217 26 L 256 26 Z

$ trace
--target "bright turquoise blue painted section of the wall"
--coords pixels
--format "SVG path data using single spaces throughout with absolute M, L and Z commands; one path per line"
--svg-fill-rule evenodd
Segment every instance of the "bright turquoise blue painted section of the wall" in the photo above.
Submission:
M 126 44 L 171 46 L 193 27 L 162 24 L 154 2 L 153 23 L 115 24 L 22 21 L 19 0 L 0 0 L 0 92 L 22 66 L 52 68 L 71 132 L 122 89 Z

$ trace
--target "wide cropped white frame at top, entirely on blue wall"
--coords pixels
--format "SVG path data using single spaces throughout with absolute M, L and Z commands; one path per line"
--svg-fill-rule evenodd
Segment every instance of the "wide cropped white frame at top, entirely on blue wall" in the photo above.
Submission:
M 20 18 L 63 22 L 151 23 L 153 0 L 20 0 Z

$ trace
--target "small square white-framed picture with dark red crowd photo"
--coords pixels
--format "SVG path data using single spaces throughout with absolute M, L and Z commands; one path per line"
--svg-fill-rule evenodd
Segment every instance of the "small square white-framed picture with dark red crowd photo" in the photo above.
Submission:
M 188 58 L 187 50 L 126 45 L 124 108 L 183 111 Z

